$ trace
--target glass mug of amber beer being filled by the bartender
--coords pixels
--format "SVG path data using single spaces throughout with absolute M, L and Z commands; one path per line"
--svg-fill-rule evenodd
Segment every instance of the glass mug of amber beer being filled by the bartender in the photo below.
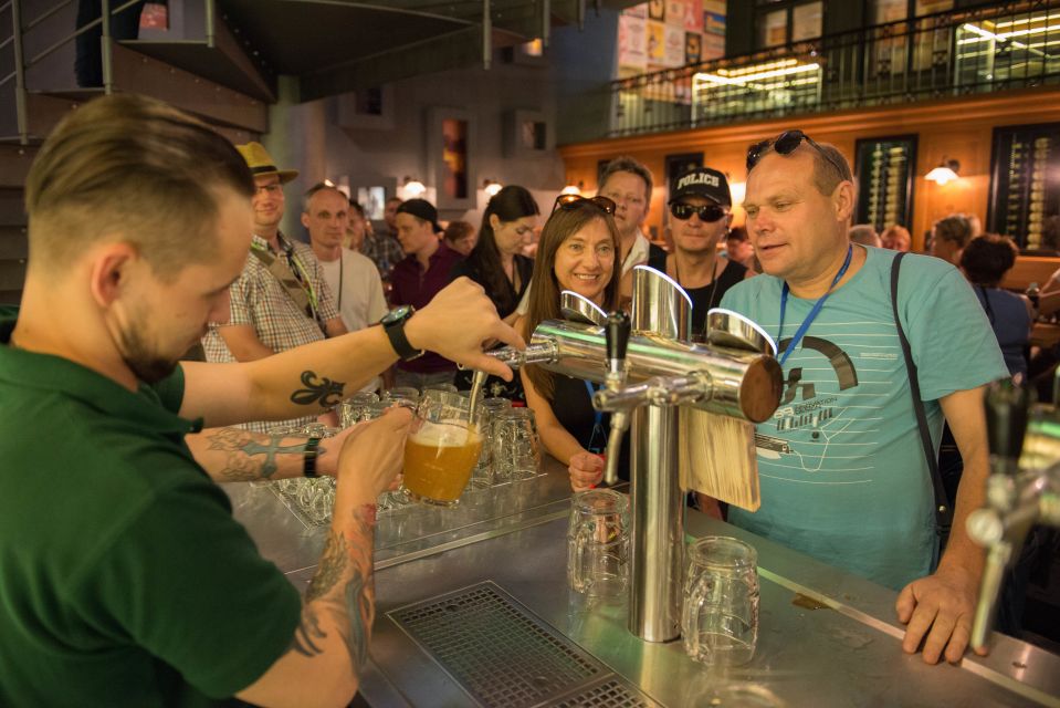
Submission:
M 468 400 L 426 392 L 405 442 L 402 490 L 413 501 L 454 507 L 479 461 L 482 437 Z

